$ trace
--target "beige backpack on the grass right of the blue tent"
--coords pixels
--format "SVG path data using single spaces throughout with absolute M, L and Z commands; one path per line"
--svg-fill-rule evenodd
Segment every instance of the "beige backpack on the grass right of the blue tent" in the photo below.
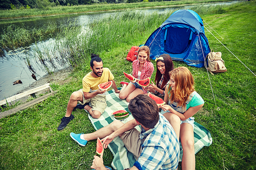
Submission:
M 208 59 L 208 70 L 211 72 L 225 72 L 227 68 L 225 67 L 225 63 L 221 58 L 221 52 L 215 53 L 214 50 L 206 56 Z

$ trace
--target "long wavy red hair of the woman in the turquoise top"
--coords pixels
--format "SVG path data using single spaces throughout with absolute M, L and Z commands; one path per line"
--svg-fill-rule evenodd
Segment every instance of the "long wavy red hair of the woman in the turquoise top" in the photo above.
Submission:
M 170 71 L 170 76 L 175 80 L 175 90 L 172 90 L 170 85 L 168 86 L 169 101 L 177 102 L 178 106 L 182 106 L 182 109 L 186 110 L 186 101 L 189 99 L 189 95 L 195 91 L 194 78 L 187 67 L 175 68 Z

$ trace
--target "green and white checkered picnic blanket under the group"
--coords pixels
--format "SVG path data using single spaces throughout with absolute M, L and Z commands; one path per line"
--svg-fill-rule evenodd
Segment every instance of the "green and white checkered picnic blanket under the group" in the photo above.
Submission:
M 92 116 L 88 114 L 95 130 L 103 128 L 109 125 L 110 123 L 112 123 L 114 121 L 114 116 L 111 114 L 114 111 L 117 111 L 117 110 L 129 111 L 128 109 L 129 103 L 127 103 L 125 100 L 120 100 L 118 95 L 119 94 L 115 93 L 114 90 L 108 91 L 106 95 L 106 104 L 107 104 L 106 109 L 98 119 L 92 118 Z M 130 111 L 129 113 L 130 113 L 130 116 L 127 119 L 122 121 L 124 124 L 133 119 L 133 116 Z M 136 129 L 140 131 L 139 126 L 137 126 Z M 195 154 L 199 150 L 201 150 L 204 146 L 208 147 L 212 143 L 210 132 L 206 128 L 204 128 L 202 125 L 196 122 L 194 127 L 194 139 L 195 139 Z M 132 167 L 136 162 L 136 159 L 133 156 L 133 154 L 127 151 L 122 140 L 119 137 L 116 137 L 108 145 L 108 147 L 114 155 L 114 159 L 111 164 L 114 169 L 119 170 L 119 169 L 129 168 L 129 167 Z M 180 144 L 180 147 L 181 147 L 181 144 Z M 179 161 L 181 161 L 182 159 L 182 153 L 183 151 L 181 147 Z

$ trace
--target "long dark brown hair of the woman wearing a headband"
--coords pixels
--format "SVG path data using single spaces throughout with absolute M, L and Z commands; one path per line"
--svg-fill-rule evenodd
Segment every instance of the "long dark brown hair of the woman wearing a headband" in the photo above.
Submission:
M 159 59 L 160 57 L 163 57 L 162 59 Z M 170 58 L 170 56 L 168 54 L 162 54 L 158 57 L 157 59 L 157 63 L 159 61 L 162 61 L 164 63 L 165 66 L 165 72 L 164 72 L 164 77 L 163 77 L 163 82 L 161 87 L 158 86 L 158 83 L 161 80 L 162 74 L 159 71 L 159 69 L 157 69 L 157 73 L 156 73 L 156 78 L 155 78 L 155 84 L 157 85 L 158 88 L 163 88 L 165 86 L 165 84 L 170 80 L 170 75 L 169 72 L 172 71 L 174 69 L 174 63 L 172 58 Z

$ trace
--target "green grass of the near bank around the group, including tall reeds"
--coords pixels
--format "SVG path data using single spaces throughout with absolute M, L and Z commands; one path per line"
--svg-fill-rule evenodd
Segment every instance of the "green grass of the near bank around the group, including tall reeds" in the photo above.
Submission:
M 219 11 L 204 12 L 200 16 L 224 39 L 205 27 L 255 73 L 255 1 L 223 6 Z M 116 21 L 118 18 L 109 18 L 102 25 L 94 23 L 91 26 L 93 36 L 90 37 L 89 33 L 80 35 L 74 30 L 71 30 L 74 32 L 72 36 L 67 29 L 63 34 L 65 41 L 56 45 L 58 51 L 63 48 L 63 54 L 69 56 L 75 65 L 70 82 L 53 84 L 52 89 L 59 90 L 54 96 L 0 119 L 0 169 L 90 169 L 96 140 L 80 147 L 69 136 L 70 132 L 94 132 L 88 115 L 76 110 L 73 112 L 75 119 L 64 130 L 57 131 L 57 126 L 65 115 L 71 93 L 81 88 L 83 76 L 90 71 L 87 58 L 91 52 L 101 56 L 104 67 L 110 68 L 120 87 L 119 82 L 125 80 L 122 71 L 132 71 L 131 62 L 125 59 L 131 46 L 144 43 L 168 17 L 129 13 L 126 17 L 119 16 L 119 21 Z M 138 24 L 131 26 L 134 21 Z M 213 138 L 209 147 L 196 154 L 196 169 L 255 169 L 256 78 L 216 38 L 207 31 L 205 34 L 210 48 L 222 52 L 228 70 L 222 74 L 209 74 L 216 102 L 205 68 L 174 61 L 176 67 L 187 66 L 192 72 L 196 90 L 205 101 L 203 109 L 195 115 L 196 122 L 207 128 Z M 155 61 L 152 62 L 156 65 Z M 109 149 L 104 151 L 103 159 L 105 165 L 111 166 L 113 155 Z

